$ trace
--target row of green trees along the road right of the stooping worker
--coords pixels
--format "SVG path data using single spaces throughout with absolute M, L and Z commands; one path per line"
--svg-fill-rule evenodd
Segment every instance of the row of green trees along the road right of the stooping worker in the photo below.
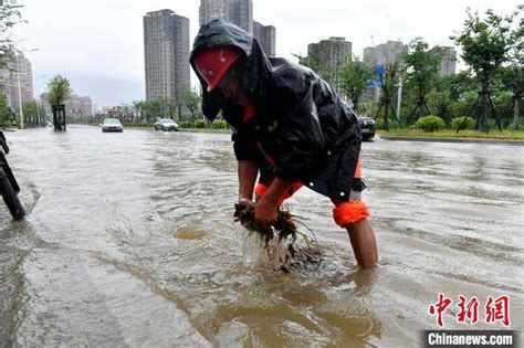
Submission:
M 462 30 L 450 36 L 468 66 L 458 74 L 439 76 L 447 53 L 430 48 L 422 38 L 409 42 L 406 52 L 388 62 L 380 75 L 355 55 L 332 66 L 322 45 L 307 57 L 298 57 L 301 64 L 334 84 L 357 112 L 376 118 L 387 130 L 410 126 L 427 115 L 441 117 L 448 126 L 453 118 L 470 116 L 483 131 L 489 120 L 500 129 L 517 129 L 524 89 L 523 8 L 510 15 L 488 10 L 482 17 L 468 9 Z M 361 102 L 370 81 L 379 81 L 380 96 L 376 102 Z M 397 119 L 391 116 L 396 115 L 400 82 L 402 119 Z

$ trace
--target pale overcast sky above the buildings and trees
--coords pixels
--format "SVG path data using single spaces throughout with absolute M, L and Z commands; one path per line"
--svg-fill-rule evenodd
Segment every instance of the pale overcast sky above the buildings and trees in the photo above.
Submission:
M 489 8 L 509 14 L 524 0 L 253 0 L 253 18 L 276 28 L 276 55 L 292 53 L 329 36 L 345 36 L 361 56 L 366 46 L 387 40 L 425 38 L 431 45 L 452 45 L 465 9 Z M 49 78 L 61 74 L 75 94 L 98 105 L 145 98 L 143 15 L 174 10 L 189 18 L 190 35 L 198 31 L 200 0 L 18 0 L 29 23 L 15 28 L 18 45 L 38 49 L 32 62 L 35 96 Z M 43 76 L 45 75 L 45 76 Z M 195 75 L 191 83 L 196 84 Z

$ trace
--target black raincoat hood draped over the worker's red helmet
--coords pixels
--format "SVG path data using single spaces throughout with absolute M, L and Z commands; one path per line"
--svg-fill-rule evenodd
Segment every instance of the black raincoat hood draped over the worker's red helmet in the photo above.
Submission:
M 208 92 L 206 80 L 195 65 L 195 57 L 202 51 L 232 45 L 242 50 L 245 71 L 242 78 L 242 95 L 250 98 L 260 84 L 260 74 L 268 71 L 268 56 L 263 53 L 256 39 L 239 27 L 223 20 L 213 20 L 202 25 L 195 38 L 189 62 L 202 85 L 202 113 L 213 120 L 223 106 L 224 97 L 219 88 Z

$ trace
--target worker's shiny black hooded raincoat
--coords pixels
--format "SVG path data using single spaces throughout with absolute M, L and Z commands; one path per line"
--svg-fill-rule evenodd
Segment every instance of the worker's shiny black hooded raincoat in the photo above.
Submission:
M 245 54 L 242 94 L 255 110 L 248 120 L 243 107 L 226 99 L 220 88 L 208 93 L 195 68 L 199 52 L 223 45 Z M 361 143 L 356 116 L 313 71 L 268 57 L 251 34 L 222 20 L 200 28 L 190 63 L 202 84 L 203 115 L 213 120 L 222 112 L 233 128 L 238 160 L 256 160 L 262 175 L 300 181 L 339 201 L 347 201 L 352 189 L 365 188 L 354 179 Z

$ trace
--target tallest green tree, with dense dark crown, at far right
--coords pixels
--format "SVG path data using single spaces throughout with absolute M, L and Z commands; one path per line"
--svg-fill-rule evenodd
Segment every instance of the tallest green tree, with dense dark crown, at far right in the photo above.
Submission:
M 492 10 L 481 19 L 479 12 L 468 9 L 464 28 L 454 36 L 455 44 L 462 49 L 462 60 L 475 72 L 481 84 L 480 92 L 480 129 L 488 133 L 488 109 L 491 106 L 490 87 L 497 70 L 510 60 L 510 49 L 514 46 L 515 34 L 512 32 L 514 15 L 501 17 Z M 496 117 L 496 115 L 495 115 Z M 499 128 L 501 128 L 496 119 Z

